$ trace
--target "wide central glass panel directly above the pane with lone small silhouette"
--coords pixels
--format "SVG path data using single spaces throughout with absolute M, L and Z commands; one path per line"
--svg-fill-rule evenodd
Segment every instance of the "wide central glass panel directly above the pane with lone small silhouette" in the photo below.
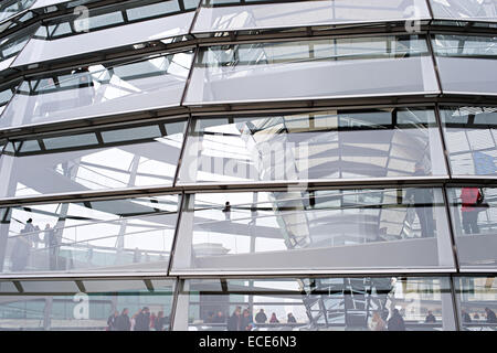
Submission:
M 180 183 L 446 174 L 433 110 L 195 119 Z

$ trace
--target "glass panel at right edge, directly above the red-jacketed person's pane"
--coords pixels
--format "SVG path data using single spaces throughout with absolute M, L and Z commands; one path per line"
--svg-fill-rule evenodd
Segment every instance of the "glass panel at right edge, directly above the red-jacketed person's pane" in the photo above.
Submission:
M 442 107 L 440 111 L 452 173 L 497 176 L 497 108 Z

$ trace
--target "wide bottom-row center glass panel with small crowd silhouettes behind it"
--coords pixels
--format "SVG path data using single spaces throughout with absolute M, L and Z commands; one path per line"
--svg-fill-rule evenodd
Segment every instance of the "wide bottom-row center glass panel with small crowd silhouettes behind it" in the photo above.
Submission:
M 210 280 L 210 282 L 215 280 Z M 447 278 L 226 279 L 184 282 L 175 330 L 455 330 Z M 219 285 L 218 285 L 219 287 Z

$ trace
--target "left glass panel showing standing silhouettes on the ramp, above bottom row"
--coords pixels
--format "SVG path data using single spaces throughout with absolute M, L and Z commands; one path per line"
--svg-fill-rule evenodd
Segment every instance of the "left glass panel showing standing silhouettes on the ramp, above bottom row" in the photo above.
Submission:
M 166 272 L 177 208 L 178 195 L 9 208 L 2 272 Z

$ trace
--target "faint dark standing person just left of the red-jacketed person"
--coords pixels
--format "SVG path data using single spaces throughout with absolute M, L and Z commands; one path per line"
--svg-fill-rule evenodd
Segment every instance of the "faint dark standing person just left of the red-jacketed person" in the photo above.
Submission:
M 425 175 L 423 163 L 414 165 L 414 175 Z M 409 189 L 405 199 L 414 200 L 414 206 L 421 225 L 421 237 L 426 238 L 433 234 L 433 191 L 429 188 Z

